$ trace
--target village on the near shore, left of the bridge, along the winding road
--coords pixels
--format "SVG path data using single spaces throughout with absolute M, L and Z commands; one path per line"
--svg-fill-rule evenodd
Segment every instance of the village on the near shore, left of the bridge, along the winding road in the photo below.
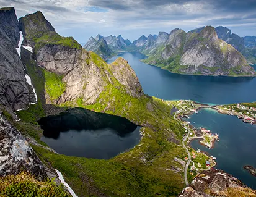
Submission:
M 190 141 L 199 139 L 201 145 L 212 149 L 214 148 L 215 141 L 219 140 L 219 135 L 217 133 L 211 133 L 211 131 L 206 128 L 195 128 L 190 122 L 185 120 L 189 119 L 188 115 L 198 113 L 197 110 L 204 106 L 200 103 L 186 100 L 167 101 L 167 103 L 169 106 L 174 107 L 172 108 L 172 114 L 185 130 L 183 135 L 183 145 L 187 147 L 189 155 L 184 157 L 183 160 L 188 162 L 191 159 L 188 176 L 193 178 L 200 171 L 211 169 L 216 166 L 216 157 L 209 156 L 200 149 L 194 150 L 190 147 Z

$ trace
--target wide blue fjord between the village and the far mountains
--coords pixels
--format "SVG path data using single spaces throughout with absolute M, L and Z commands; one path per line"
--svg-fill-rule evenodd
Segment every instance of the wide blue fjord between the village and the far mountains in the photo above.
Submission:
M 146 56 L 124 52 L 117 57 L 126 59 L 135 70 L 143 91 L 166 100 L 190 99 L 208 104 L 230 104 L 256 101 L 256 77 L 213 77 L 178 75 L 144 64 Z

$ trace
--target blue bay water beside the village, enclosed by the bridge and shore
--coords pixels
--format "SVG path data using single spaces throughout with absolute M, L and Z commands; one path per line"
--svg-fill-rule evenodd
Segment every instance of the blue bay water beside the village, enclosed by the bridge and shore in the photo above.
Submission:
M 193 140 L 190 145 L 194 149 L 206 151 L 216 157 L 217 169 L 239 178 L 249 187 L 256 188 L 256 177 L 243 166 L 256 167 L 256 125 L 245 124 L 236 116 L 219 114 L 213 109 L 200 109 L 198 114 L 187 119 L 194 127 L 204 127 L 219 134 L 219 142 L 213 149 L 208 149 Z

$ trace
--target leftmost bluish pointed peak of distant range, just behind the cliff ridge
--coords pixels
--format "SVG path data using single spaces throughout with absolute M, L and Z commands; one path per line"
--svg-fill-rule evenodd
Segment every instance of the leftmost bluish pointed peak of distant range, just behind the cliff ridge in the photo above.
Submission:
M 99 38 L 90 37 L 89 41 L 84 45 L 84 49 L 87 51 L 93 51 L 102 59 L 106 60 L 113 56 L 114 52 L 108 47 L 107 42 L 104 38 L 98 35 Z

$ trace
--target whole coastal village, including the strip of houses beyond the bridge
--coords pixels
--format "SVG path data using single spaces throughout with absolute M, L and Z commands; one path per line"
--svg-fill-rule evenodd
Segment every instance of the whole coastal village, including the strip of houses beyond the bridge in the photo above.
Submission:
M 202 170 L 211 169 L 216 166 L 216 157 L 210 156 L 208 153 L 197 149 L 196 151 L 190 147 L 192 140 L 198 139 L 199 143 L 209 149 L 214 148 L 214 143 L 219 141 L 218 133 L 212 133 L 206 128 L 195 128 L 188 121 L 189 115 L 197 114 L 201 108 L 211 108 L 221 114 L 237 116 L 245 123 L 256 124 L 256 103 L 252 104 L 229 104 L 220 106 L 209 106 L 207 104 L 196 103 L 195 101 L 180 100 L 166 101 L 169 106 L 172 106 L 171 114 L 175 120 L 179 121 L 185 130 L 183 135 L 183 146 L 187 149 L 188 156 L 185 156 L 183 161 L 189 164 L 188 177 L 193 178 Z M 186 173 L 186 169 L 185 169 Z

